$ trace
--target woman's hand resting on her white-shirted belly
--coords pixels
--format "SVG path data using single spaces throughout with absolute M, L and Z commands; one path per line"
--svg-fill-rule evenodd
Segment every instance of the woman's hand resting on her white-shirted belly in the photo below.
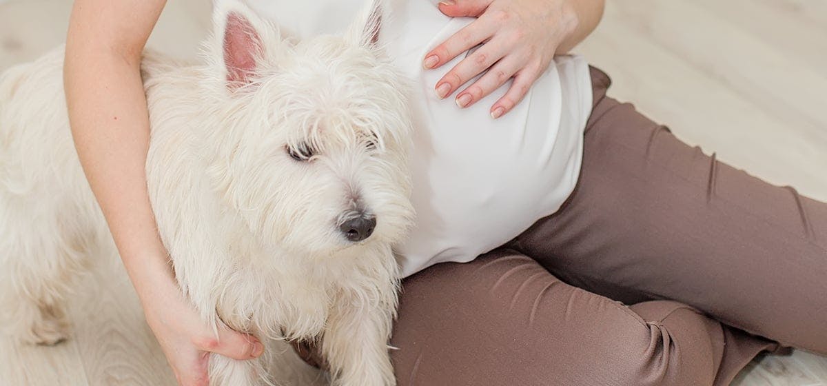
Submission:
M 513 78 L 508 92 L 490 108 L 496 119 L 523 99 L 556 53 L 570 50 L 594 30 L 603 0 L 454 0 L 440 2 L 439 9 L 450 17 L 477 20 L 425 55 L 426 69 L 481 46 L 437 82 L 437 96 L 447 98 L 485 73 L 457 94 L 457 105 L 468 107 Z

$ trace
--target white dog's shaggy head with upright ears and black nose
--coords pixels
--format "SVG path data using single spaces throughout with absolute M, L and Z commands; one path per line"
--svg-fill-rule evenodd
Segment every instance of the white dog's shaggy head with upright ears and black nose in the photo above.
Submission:
M 219 3 L 205 79 L 218 193 L 257 238 L 288 250 L 401 241 L 413 217 L 411 123 L 383 54 L 380 2 L 346 34 L 308 41 L 282 39 L 241 2 Z

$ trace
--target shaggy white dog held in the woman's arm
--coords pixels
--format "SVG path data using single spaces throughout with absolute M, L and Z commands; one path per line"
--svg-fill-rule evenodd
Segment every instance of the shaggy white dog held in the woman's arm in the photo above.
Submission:
M 203 64 L 147 54 L 151 203 L 203 319 L 320 340 L 334 384 L 395 384 L 388 339 L 412 222 L 406 87 L 382 55 L 383 7 L 344 36 L 281 39 L 221 2 Z M 65 338 L 89 251 L 111 243 L 75 154 L 62 52 L 0 77 L 0 312 L 22 341 Z M 210 359 L 212 384 L 269 384 L 261 360 Z

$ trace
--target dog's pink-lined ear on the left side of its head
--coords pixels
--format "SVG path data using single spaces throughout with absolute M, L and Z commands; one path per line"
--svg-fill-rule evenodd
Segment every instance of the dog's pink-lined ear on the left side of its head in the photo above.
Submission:
M 252 82 L 267 50 L 280 41 L 278 31 L 237 0 L 222 0 L 213 12 L 213 47 L 210 48 L 220 79 L 234 90 Z

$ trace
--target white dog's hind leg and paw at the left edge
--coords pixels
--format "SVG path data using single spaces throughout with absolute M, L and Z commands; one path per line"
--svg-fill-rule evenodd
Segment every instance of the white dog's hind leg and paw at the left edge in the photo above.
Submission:
M 0 329 L 54 345 L 68 336 L 65 303 L 98 234 L 64 194 L 27 193 L 0 191 Z

